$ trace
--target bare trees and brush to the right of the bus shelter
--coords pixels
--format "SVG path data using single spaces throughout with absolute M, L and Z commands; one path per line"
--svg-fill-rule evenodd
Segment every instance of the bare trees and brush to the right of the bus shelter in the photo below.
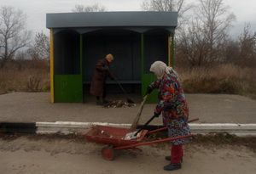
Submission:
M 224 0 L 145 0 L 143 9 L 177 11 L 176 53 L 179 65 L 219 63 L 256 65 L 256 33 L 245 24 L 240 36 L 230 36 L 235 14 Z

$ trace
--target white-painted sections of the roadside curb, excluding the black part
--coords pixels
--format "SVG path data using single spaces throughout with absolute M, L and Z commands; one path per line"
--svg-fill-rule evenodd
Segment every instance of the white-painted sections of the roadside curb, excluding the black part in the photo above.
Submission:
M 117 126 L 130 127 L 131 124 L 114 124 L 102 122 L 37 122 L 37 133 L 75 133 L 87 132 L 91 126 Z M 256 136 L 256 124 L 234 124 L 234 123 L 189 123 L 191 132 L 194 134 L 207 134 L 211 132 L 226 132 L 237 136 Z

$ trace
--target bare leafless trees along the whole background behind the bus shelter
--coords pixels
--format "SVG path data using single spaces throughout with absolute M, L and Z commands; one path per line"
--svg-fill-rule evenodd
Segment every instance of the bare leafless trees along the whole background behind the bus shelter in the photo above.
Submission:
M 245 24 L 240 36 L 230 36 L 235 14 L 224 0 L 144 0 L 143 10 L 177 11 L 177 63 L 186 67 L 232 62 L 256 65 L 256 33 Z M 107 11 L 101 4 L 75 5 L 73 12 Z M 49 38 L 26 30 L 26 14 L 0 8 L 0 67 L 9 59 L 49 59 Z

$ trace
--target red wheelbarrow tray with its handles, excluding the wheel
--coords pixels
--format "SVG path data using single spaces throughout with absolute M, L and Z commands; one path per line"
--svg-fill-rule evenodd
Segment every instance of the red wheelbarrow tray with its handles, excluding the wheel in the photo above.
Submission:
M 158 130 L 162 131 L 163 128 L 160 128 Z M 143 142 L 147 134 L 158 132 L 158 130 L 154 130 L 152 132 L 148 132 L 148 130 L 142 130 L 138 138 L 125 140 L 125 135 L 131 132 L 131 129 L 113 126 L 93 126 L 90 129 L 90 131 L 87 132 L 84 136 L 89 142 L 112 145 L 113 149 L 132 149 L 136 148 L 137 146 L 148 145 L 153 143 L 163 143 L 182 138 L 189 138 L 192 136 L 187 135 L 179 136 L 176 138 L 163 138 L 159 140 Z

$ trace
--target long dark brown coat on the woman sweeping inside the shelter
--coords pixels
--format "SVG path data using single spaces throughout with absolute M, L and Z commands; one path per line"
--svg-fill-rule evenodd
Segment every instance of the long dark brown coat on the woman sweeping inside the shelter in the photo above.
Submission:
M 112 74 L 109 71 L 109 63 L 107 59 L 100 59 L 96 63 L 96 69 L 94 70 L 91 82 L 90 82 L 90 94 L 94 96 L 102 96 L 103 87 L 107 78 L 113 79 Z

